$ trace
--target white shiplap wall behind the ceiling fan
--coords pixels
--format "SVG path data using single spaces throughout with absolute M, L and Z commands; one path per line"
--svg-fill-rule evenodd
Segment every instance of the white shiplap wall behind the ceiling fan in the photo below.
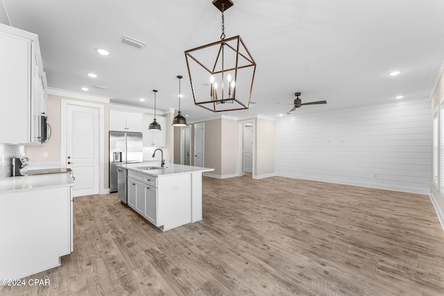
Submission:
M 311 114 L 296 110 L 276 122 L 275 173 L 428 194 L 430 114 L 426 99 Z

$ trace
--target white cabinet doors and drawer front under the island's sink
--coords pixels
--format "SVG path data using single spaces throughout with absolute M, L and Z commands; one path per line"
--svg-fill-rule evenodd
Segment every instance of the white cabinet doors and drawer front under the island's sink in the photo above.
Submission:
M 145 175 L 146 176 L 146 175 Z M 157 225 L 157 188 L 150 182 L 142 182 L 144 175 L 128 174 L 128 205 L 146 220 Z M 137 179 L 136 179 L 137 178 Z M 151 177 L 152 179 L 155 177 Z M 139 180 L 138 180 L 139 179 Z

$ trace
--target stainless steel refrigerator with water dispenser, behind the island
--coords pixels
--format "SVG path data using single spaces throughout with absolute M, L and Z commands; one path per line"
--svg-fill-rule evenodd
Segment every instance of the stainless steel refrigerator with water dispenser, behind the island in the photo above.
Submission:
M 116 192 L 117 164 L 144 162 L 142 132 L 110 132 L 110 192 Z

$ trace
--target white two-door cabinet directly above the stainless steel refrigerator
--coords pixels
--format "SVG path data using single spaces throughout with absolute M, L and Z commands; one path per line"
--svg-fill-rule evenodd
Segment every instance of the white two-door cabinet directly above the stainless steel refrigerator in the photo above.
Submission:
M 142 132 L 142 113 L 110 110 L 110 130 L 117 132 Z

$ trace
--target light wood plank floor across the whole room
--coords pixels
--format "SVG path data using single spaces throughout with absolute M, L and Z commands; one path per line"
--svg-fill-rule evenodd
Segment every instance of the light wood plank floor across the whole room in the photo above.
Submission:
M 444 295 L 427 195 L 284 177 L 203 179 L 203 220 L 161 232 L 115 193 L 74 200 L 74 253 L 0 295 Z

